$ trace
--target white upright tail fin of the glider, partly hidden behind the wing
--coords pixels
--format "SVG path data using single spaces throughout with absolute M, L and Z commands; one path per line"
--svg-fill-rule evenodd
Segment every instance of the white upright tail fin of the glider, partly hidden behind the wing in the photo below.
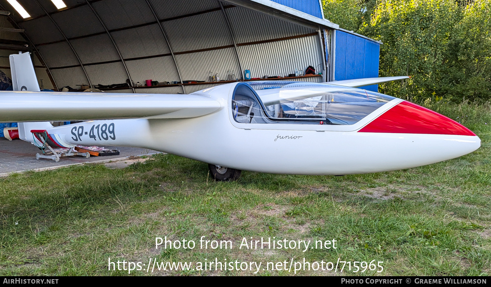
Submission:
M 12 88 L 14 91 L 39 92 L 39 83 L 32 65 L 30 53 L 12 54 L 10 70 L 12 72 Z M 33 142 L 31 130 L 48 130 L 53 128 L 50 122 L 19 123 L 19 138 Z

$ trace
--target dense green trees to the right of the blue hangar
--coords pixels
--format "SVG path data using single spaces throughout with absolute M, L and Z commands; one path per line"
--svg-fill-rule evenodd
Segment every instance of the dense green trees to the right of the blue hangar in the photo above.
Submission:
M 383 43 L 381 77 L 411 76 L 381 92 L 415 101 L 491 99 L 491 0 L 332 2 L 324 9 L 338 14 L 340 26 Z

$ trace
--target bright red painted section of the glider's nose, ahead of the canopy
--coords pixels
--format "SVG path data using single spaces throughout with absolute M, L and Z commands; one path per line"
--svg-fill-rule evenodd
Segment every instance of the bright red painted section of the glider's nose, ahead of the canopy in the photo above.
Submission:
M 452 119 L 407 101 L 395 105 L 359 131 L 476 135 Z

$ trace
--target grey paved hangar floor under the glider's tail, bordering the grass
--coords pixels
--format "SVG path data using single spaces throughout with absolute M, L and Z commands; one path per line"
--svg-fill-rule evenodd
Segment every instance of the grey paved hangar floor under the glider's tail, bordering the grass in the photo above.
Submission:
M 127 147 L 110 147 L 108 149 L 119 150 L 119 156 L 111 157 L 61 157 L 59 162 L 51 159 L 36 159 L 36 154 L 41 151 L 34 145 L 23 140 L 9 141 L 4 137 L 0 137 L 0 176 L 8 175 L 12 172 L 20 172 L 27 170 L 45 170 L 54 169 L 73 164 L 82 164 L 85 162 L 101 162 L 101 161 L 116 161 L 123 160 L 132 156 L 144 156 L 158 153 L 153 150 L 127 148 Z

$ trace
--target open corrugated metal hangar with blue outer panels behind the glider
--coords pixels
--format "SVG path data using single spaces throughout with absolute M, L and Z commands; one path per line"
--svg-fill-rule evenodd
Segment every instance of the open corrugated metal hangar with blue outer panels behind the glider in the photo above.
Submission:
M 31 52 L 41 88 L 55 91 L 378 77 L 381 43 L 324 19 L 320 0 L 0 0 L 0 10 L 1 71 L 10 77 L 9 54 Z

